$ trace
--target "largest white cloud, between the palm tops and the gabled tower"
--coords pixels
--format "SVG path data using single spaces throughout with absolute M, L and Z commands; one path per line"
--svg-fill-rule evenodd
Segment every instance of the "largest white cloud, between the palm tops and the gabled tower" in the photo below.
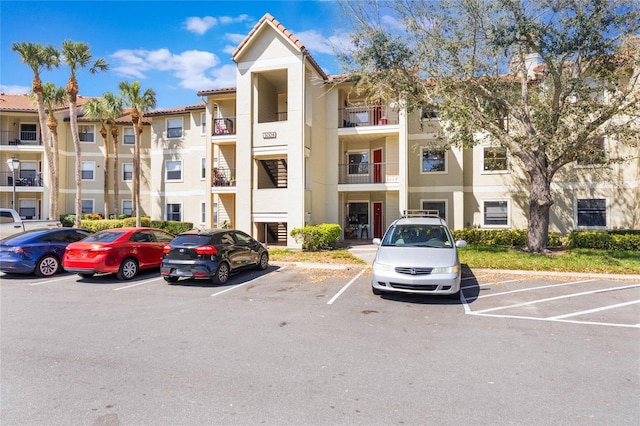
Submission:
M 111 57 L 116 63 L 112 70 L 118 75 L 144 79 L 149 72 L 165 71 L 179 80 L 180 87 L 194 90 L 214 87 L 215 81 L 206 75 L 220 64 L 216 55 L 201 50 L 187 50 L 175 54 L 168 49 L 123 49 Z

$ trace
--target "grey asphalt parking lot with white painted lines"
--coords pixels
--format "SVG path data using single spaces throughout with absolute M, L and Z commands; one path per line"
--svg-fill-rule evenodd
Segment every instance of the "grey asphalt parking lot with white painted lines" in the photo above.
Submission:
M 460 300 L 368 267 L 225 286 L 2 276 L 0 423 L 640 424 L 640 282 L 474 271 Z

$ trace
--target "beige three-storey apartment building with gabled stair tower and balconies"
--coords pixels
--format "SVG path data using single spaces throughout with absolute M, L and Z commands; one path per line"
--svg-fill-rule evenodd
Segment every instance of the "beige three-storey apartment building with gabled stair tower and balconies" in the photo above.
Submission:
M 528 178 L 516 158 L 489 140 L 464 150 L 439 146 L 437 111 L 407 114 L 391 100 L 372 104 L 359 98 L 348 80 L 326 75 L 270 15 L 232 58 L 236 87 L 203 88 L 200 104 L 147 114 L 144 215 L 239 228 L 269 245 L 290 247 L 299 247 L 289 236 L 293 228 L 319 223 L 341 225 L 345 239 L 379 237 L 405 210 L 437 210 L 453 229 L 527 227 Z M 21 179 L 40 178 L 16 187 L 21 214 L 46 217 L 37 113 L 28 103 L 6 108 L 14 97 L 0 95 L 0 201 L 11 203 L 5 162 L 18 157 L 26 165 Z M 76 159 L 65 114 L 58 112 L 66 128 L 60 205 L 61 212 L 73 212 Z M 83 211 L 103 213 L 104 144 L 98 123 L 81 126 L 92 139 L 83 143 L 80 159 Z M 123 117 L 119 127 L 119 211 L 127 213 L 130 118 Z M 603 140 L 602 147 L 632 160 L 607 168 L 565 166 L 552 185 L 552 231 L 640 228 L 639 155 L 614 139 Z

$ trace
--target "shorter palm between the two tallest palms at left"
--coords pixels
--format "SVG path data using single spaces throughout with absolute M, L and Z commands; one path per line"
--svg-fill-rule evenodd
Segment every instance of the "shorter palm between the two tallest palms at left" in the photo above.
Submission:
M 64 87 L 58 87 L 53 83 L 45 83 L 42 90 L 42 98 L 47 110 L 47 127 L 51 133 L 51 153 L 53 154 L 53 173 L 50 173 L 50 201 L 51 216 L 58 217 L 58 194 L 60 187 L 60 174 L 58 167 L 60 164 L 60 144 L 58 143 L 58 119 L 54 115 L 56 107 L 63 106 L 66 98 Z M 50 169 L 51 171 L 52 169 Z M 55 194 L 55 195 L 54 195 Z

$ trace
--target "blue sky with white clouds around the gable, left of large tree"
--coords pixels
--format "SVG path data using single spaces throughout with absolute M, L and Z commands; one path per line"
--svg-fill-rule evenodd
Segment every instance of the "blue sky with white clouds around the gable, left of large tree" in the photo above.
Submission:
M 340 72 L 332 46 L 347 39 L 335 1 L 0 1 L 0 92 L 27 93 L 31 69 L 11 50 L 14 42 L 89 44 L 109 71 L 80 70 L 80 94 L 118 92 L 123 80 L 156 92 L 157 108 L 200 101 L 198 90 L 235 87 L 231 53 L 270 13 L 296 35 L 328 74 Z M 42 80 L 64 86 L 69 69 Z

